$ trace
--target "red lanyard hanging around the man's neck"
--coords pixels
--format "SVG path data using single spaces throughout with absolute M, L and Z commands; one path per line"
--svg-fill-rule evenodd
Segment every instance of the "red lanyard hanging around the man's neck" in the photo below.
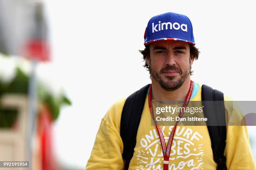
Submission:
M 185 101 L 184 101 L 184 104 L 183 104 L 182 107 L 185 107 L 185 108 L 187 107 L 187 105 L 189 103 L 189 100 L 190 100 L 190 97 L 192 95 L 193 87 L 194 87 L 194 82 L 192 82 L 190 80 L 189 91 L 187 92 L 187 96 L 185 98 Z M 152 111 L 152 85 L 150 85 L 150 87 L 149 87 L 148 105 L 149 105 L 149 110 L 151 112 L 151 116 L 152 116 L 152 118 L 154 119 L 154 121 L 156 123 L 156 129 L 157 129 L 158 134 L 159 134 L 159 138 L 160 138 L 160 142 L 161 142 L 161 146 L 162 146 L 162 151 L 163 151 L 163 154 L 164 154 L 164 170 L 168 170 L 170 151 L 171 151 L 171 147 L 172 147 L 172 141 L 173 141 L 174 133 L 175 133 L 175 130 L 176 130 L 176 127 L 177 127 L 177 124 L 178 124 L 179 121 L 176 122 L 176 124 L 174 125 L 174 128 L 172 129 L 171 135 L 170 135 L 169 140 L 168 140 L 167 149 L 166 149 L 163 132 L 162 132 L 161 128 L 159 127 L 159 125 L 157 124 L 156 119 L 154 117 L 154 112 Z M 184 114 L 184 112 L 179 112 L 179 117 L 182 117 L 183 114 Z

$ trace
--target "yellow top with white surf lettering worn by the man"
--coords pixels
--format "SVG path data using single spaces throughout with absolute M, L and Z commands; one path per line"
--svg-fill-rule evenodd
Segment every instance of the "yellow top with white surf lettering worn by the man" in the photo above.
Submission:
M 201 87 L 191 101 L 201 101 Z M 227 97 L 224 100 L 229 100 Z M 86 170 L 122 170 L 123 142 L 120 120 L 125 99 L 113 104 L 102 118 Z M 226 112 L 229 110 L 225 105 Z M 166 141 L 172 126 L 160 126 Z M 246 126 L 227 126 L 224 155 L 228 170 L 256 170 Z M 163 170 L 163 153 L 159 135 L 151 125 L 151 114 L 146 97 L 136 146 L 129 170 Z M 216 170 L 207 126 L 177 126 L 169 158 L 169 170 Z

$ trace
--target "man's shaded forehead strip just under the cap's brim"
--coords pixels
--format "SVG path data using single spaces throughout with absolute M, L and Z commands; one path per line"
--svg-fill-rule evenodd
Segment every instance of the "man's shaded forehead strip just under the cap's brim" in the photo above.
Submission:
M 156 41 L 151 43 L 151 48 L 154 47 L 189 47 L 189 44 L 187 42 L 182 42 L 182 41 Z

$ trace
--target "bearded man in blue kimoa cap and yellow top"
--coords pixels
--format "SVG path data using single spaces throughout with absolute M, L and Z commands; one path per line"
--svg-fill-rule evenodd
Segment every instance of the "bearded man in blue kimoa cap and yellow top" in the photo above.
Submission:
M 151 125 L 155 120 L 151 115 L 152 101 L 185 101 L 185 108 L 188 101 L 202 101 L 202 87 L 190 80 L 191 65 L 199 51 L 194 46 L 189 18 L 176 13 L 157 15 L 149 20 L 144 40 L 145 50 L 141 53 L 152 84 L 143 102 L 131 160 L 122 156 L 126 141 L 120 135 L 120 122 L 125 100 L 120 100 L 102 118 L 86 169 L 225 169 L 215 163 L 207 126 Z M 228 110 L 225 105 L 225 112 Z M 224 143 L 223 163 L 228 170 L 256 169 L 246 126 L 227 126 Z

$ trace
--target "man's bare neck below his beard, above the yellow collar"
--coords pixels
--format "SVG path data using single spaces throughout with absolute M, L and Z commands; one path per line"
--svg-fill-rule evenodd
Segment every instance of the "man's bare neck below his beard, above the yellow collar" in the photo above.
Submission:
M 153 78 L 153 77 L 152 77 Z M 152 95 L 156 101 L 184 101 L 190 87 L 190 76 L 181 87 L 174 91 L 164 90 L 158 82 L 152 79 Z

